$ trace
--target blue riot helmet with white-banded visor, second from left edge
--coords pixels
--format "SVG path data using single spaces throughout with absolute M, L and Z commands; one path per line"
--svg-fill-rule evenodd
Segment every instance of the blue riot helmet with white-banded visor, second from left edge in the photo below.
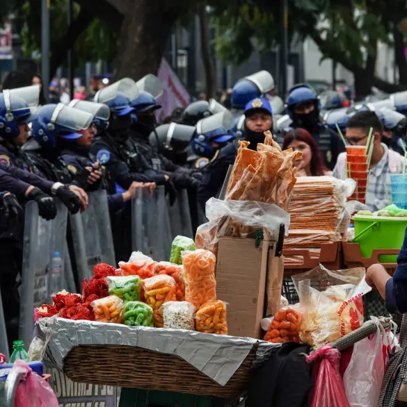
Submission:
M 57 138 L 76 140 L 82 137 L 81 130 L 89 128 L 93 115 L 66 106 L 63 103 L 42 106 L 31 122 L 35 140 L 45 149 L 56 147 Z

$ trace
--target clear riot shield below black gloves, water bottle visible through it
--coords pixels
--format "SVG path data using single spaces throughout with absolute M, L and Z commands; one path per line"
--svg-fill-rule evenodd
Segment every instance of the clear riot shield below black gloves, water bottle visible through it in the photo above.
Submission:
M 25 208 L 19 338 L 27 349 L 33 334 L 34 308 L 49 301 L 49 266 L 55 252 L 65 260 L 67 208 L 56 200 L 57 215 L 47 221 L 38 215 L 38 205 L 30 201 Z M 63 269 L 62 265 L 62 269 Z M 64 287 L 65 273 L 61 279 Z

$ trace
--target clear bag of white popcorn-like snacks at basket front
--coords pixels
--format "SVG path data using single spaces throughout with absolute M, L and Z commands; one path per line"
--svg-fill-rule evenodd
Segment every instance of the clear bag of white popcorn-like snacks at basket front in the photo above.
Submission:
M 161 306 L 164 328 L 195 329 L 195 307 L 187 301 L 168 301 Z

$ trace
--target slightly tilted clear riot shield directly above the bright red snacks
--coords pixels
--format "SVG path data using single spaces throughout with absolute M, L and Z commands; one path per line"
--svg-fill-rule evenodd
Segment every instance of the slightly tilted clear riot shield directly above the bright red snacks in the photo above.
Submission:
M 79 281 L 90 279 L 98 263 L 116 263 L 106 191 L 90 192 L 88 197 L 88 208 L 70 215 Z

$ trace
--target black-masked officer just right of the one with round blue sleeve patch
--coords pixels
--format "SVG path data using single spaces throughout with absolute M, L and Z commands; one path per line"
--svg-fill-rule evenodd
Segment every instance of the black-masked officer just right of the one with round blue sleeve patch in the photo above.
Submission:
M 148 92 L 140 92 L 137 99 L 131 101 L 136 117 L 131 125 L 131 142 L 138 156 L 142 156 L 154 171 L 169 176 L 175 188 L 196 188 L 201 176 L 197 169 L 187 169 L 172 163 L 162 156 L 150 143 L 150 134 L 155 131 L 155 110 L 161 108 Z

